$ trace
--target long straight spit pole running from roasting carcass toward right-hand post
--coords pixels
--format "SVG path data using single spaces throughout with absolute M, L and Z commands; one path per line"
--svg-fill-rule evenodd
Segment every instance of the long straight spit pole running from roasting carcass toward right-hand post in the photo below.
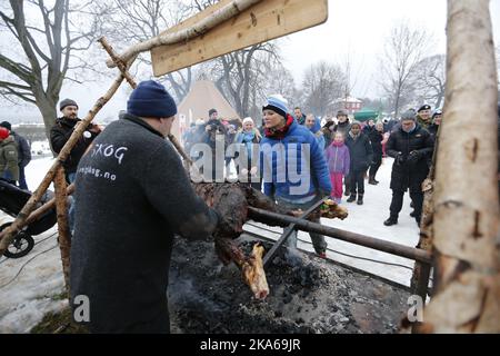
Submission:
M 316 224 L 316 222 L 298 219 L 298 218 L 287 216 L 287 215 L 270 212 L 270 211 L 267 211 L 263 209 L 258 209 L 258 208 L 253 208 L 253 207 L 249 207 L 248 209 L 251 212 L 251 215 L 254 217 L 261 216 L 261 217 L 266 217 L 268 219 L 269 218 L 273 219 L 274 221 L 281 222 L 281 224 L 296 224 L 296 226 L 303 231 L 322 234 L 326 236 L 337 238 L 339 240 L 343 240 L 343 241 L 348 241 L 351 244 L 373 248 L 373 249 L 377 249 L 377 250 L 380 250 L 383 253 L 388 253 L 388 254 L 400 256 L 400 257 L 406 257 L 406 258 L 418 260 L 418 261 L 426 263 L 426 264 L 431 264 L 431 261 L 432 261 L 431 253 L 421 250 L 421 249 L 418 249 L 414 247 L 408 247 L 408 246 L 394 244 L 391 241 L 384 241 L 384 240 L 381 240 L 381 239 L 378 239 L 374 237 L 356 234 L 356 233 L 350 233 L 350 231 L 344 231 L 344 230 L 341 230 L 338 228 L 322 226 L 321 224 Z M 256 220 L 258 220 L 258 219 L 256 219 Z

